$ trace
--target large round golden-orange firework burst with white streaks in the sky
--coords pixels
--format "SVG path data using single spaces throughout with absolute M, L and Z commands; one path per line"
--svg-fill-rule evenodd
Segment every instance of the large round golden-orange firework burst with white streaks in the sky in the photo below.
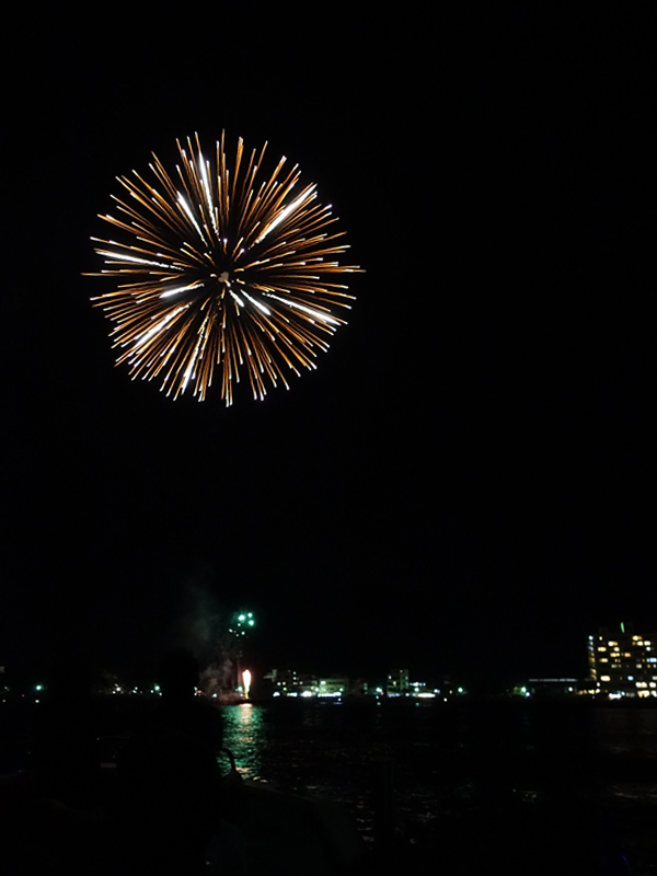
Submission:
M 240 138 L 231 168 L 223 134 L 214 161 L 198 136 L 177 146 L 177 182 L 154 153 L 152 184 L 136 171 L 117 177 L 128 195 L 113 196 L 120 218 L 100 218 L 123 242 L 92 238 L 107 268 L 87 276 L 115 280 L 92 301 L 115 323 L 117 365 L 174 399 L 191 388 L 203 401 L 216 370 L 227 404 L 244 373 L 256 399 L 279 381 L 289 389 L 286 376 L 315 368 L 345 323 L 354 296 L 334 280 L 360 268 L 334 261 L 348 249 L 344 232 L 285 155 L 265 177 L 266 143 L 246 155 Z

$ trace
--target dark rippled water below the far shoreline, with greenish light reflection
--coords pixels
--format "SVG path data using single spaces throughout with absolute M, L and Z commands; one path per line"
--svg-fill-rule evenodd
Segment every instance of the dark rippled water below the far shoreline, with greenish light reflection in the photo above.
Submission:
M 106 758 L 152 703 L 105 705 Z M 581 701 L 223 707 L 242 775 L 339 800 L 426 872 L 657 874 L 657 710 Z M 28 710 L 0 705 L 0 772 Z M 391 850 L 392 853 L 392 850 Z M 414 872 L 425 872 L 420 863 Z

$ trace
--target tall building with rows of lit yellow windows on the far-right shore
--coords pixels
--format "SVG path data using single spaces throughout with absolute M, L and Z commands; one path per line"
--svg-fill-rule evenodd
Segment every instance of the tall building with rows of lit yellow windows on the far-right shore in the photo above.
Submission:
M 631 624 L 620 632 L 601 627 L 588 637 L 591 693 L 615 696 L 657 696 L 657 633 L 635 633 Z

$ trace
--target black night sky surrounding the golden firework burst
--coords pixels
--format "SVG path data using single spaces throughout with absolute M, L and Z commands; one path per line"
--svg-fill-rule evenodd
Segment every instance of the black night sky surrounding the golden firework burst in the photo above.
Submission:
M 656 625 L 649 5 L 530 5 L 5 21 L 0 664 L 246 607 L 263 667 L 580 675 Z M 230 410 L 113 368 L 80 276 L 114 177 L 222 128 L 367 270 L 318 371 Z

